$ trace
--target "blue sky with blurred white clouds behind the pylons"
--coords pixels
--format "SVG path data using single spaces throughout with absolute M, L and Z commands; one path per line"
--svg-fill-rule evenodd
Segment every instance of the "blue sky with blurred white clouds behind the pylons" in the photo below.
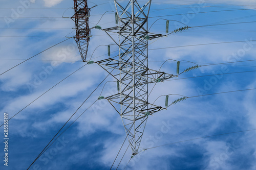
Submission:
M 125 4 L 127 1 L 119 2 Z M 140 4 L 143 2 L 146 1 L 140 1 Z M 113 1 L 97 0 L 93 3 L 98 6 L 91 11 L 90 27 L 96 25 L 105 11 L 114 10 Z M 89 3 L 90 7 L 95 5 L 93 3 Z M 0 73 L 74 36 L 73 20 L 62 18 L 73 15 L 73 5 L 73 1 L 62 0 L 1 1 Z M 249 0 L 153 1 L 152 18 L 148 23 L 151 26 L 158 18 L 177 20 L 189 27 L 251 22 L 256 21 L 255 8 L 255 2 Z M 197 14 L 190 14 L 195 12 Z M 163 15 L 172 16 L 158 17 Z M 103 29 L 116 26 L 115 14 L 107 12 L 98 25 Z M 170 21 L 170 31 L 177 27 L 183 25 Z M 150 95 L 150 102 L 166 94 L 197 96 L 255 88 L 255 72 L 227 74 L 256 70 L 255 61 L 239 62 L 255 59 L 256 42 L 252 41 L 256 40 L 254 28 L 255 22 L 190 28 L 155 42 L 149 41 L 152 43 L 148 47 L 149 67 L 155 70 L 159 70 L 168 59 L 186 60 L 199 65 L 238 62 L 203 66 L 179 78 L 158 83 Z M 165 34 L 165 20 L 158 20 L 151 32 Z M 92 35 L 88 56 L 92 56 L 94 61 L 107 58 L 106 46 L 94 50 L 98 45 L 114 44 L 113 40 L 101 30 L 93 29 Z M 244 42 L 186 46 L 231 41 Z M 172 48 L 154 50 L 163 47 Z M 111 56 L 117 55 L 114 52 L 116 50 L 117 46 L 111 46 Z M 181 62 L 181 70 L 194 66 L 190 62 Z M 4 112 L 9 113 L 9 118 L 12 117 L 83 64 L 76 43 L 71 38 L 1 75 L 1 125 Z M 175 74 L 176 62 L 168 60 L 161 70 Z M 107 75 L 97 64 L 87 65 L 13 117 L 9 121 L 9 166 L 4 166 L 1 160 L 0 168 L 27 169 Z M 190 78 L 205 75 L 215 76 Z M 109 76 L 107 81 L 114 79 Z M 104 83 L 71 122 L 97 100 Z M 115 93 L 115 82 L 107 83 L 102 91 L 103 96 Z M 256 129 L 254 96 L 255 90 L 250 90 L 190 98 L 149 116 L 141 149 L 174 144 L 141 152 L 131 159 L 125 169 L 256 169 L 255 131 L 200 138 Z M 177 95 L 171 95 L 169 102 L 178 98 Z M 164 106 L 165 98 L 159 98 L 155 104 Z M 4 141 L 4 129 L 0 129 L 1 141 Z M 124 139 L 125 131 L 118 113 L 108 102 L 97 101 L 30 169 L 110 169 Z M 3 159 L 4 144 L 1 143 L 0 154 Z M 117 168 L 127 146 L 125 142 L 114 168 Z M 118 169 L 124 169 L 131 155 L 132 150 L 129 148 Z

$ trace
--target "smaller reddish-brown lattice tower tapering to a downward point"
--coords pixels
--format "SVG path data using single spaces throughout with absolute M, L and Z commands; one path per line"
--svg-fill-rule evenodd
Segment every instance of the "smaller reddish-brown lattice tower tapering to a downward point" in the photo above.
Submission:
M 74 0 L 75 14 L 71 18 L 76 23 L 75 40 L 83 62 L 86 61 L 91 29 L 89 29 L 90 8 L 87 0 Z

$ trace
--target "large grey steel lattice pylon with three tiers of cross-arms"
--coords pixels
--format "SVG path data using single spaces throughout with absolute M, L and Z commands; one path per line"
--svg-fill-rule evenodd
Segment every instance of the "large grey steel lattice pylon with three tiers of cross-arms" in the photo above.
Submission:
M 148 115 L 163 107 L 148 102 L 148 84 L 158 83 L 174 75 L 148 68 L 148 41 L 163 37 L 148 32 L 148 14 L 151 1 L 114 1 L 116 27 L 103 29 L 119 46 L 119 60 L 108 58 L 97 61 L 116 80 L 118 93 L 105 97 L 122 118 L 133 155 L 138 154 Z M 119 35 L 115 40 L 110 33 Z M 121 109 L 116 104 L 121 105 Z M 120 111 L 119 111 L 120 110 Z

